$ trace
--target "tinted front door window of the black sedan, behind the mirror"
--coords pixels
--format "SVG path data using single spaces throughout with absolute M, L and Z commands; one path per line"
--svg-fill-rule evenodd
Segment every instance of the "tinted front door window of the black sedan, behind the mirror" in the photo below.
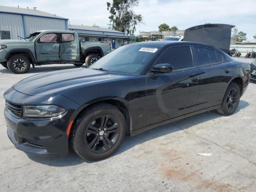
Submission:
M 165 63 L 172 64 L 173 70 L 193 67 L 193 59 L 190 46 L 174 47 L 168 49 L 157 61 L 157 64 Z

